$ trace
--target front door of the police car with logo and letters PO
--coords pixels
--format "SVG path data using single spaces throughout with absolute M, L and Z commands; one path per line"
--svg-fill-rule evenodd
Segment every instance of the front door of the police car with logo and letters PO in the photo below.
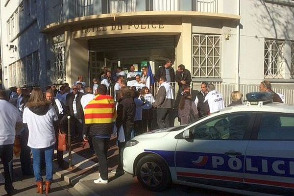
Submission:
M 179 137 L 176 146 L 177 180 L 243 188 L 245 149 L 253 115 L 222 114 L 189 128 L 193 139 Z

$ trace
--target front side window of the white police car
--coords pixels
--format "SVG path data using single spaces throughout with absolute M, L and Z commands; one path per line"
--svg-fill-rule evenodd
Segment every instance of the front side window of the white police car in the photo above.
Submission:
M 190 128 L 194 139 L 242 140 L 250 114 L 230 114 Z

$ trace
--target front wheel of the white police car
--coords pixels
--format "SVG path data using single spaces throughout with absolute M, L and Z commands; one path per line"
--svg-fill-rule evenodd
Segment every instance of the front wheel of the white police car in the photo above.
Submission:
M 171 182 L 171 174 L 166 163 L 159 157 L 149 154 L 140 159 L 136 175 L 144 188 L 162 191 Z

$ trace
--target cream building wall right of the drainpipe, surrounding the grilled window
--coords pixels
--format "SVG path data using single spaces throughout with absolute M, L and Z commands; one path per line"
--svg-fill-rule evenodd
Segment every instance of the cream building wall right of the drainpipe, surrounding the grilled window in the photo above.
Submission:
M 240 24 L 240 83 L 259 84 L 264 79 L 265 39 L 294 40 L 294 7 L 275 0 L 241 0 Z M 272 82 L 294 82 L 290 79 L 290 48 L 286 45 L 284 78 L 270 79 Z

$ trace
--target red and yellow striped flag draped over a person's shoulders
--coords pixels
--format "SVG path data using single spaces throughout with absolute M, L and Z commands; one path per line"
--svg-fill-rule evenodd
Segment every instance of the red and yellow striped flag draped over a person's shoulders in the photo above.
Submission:
M 112 96 L 97 95 L 85 107 L 85 123 L 113 123 L 117 114 Z

